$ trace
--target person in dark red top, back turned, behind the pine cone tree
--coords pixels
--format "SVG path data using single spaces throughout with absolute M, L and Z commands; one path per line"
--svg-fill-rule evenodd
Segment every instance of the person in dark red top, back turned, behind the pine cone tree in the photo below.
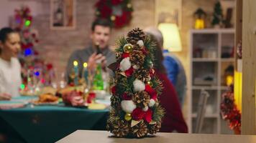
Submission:
M 163 82 L 164 87 L 163 92 L 160 95 L 160 104 L 165 108 L 165 117 L 163 117 L 160 132 L 175 131 L 180 133 L 187 133 L 188 127 L 180 109 L 178 95 L 175 92 L 173 84 L 171 84 L 171 82 L 169 81 L 165 71 L 165 66 L 163 65 L 164 57 L 162 48 L 159 42 L 157 42 L 157 37 L 155 37 L 157 35 L 154 35 L 154 32 L 150 31 L 146 31 L 146 33 L 157 44 L 157 49 L 155 50 L 154 68 L 157 77 Z

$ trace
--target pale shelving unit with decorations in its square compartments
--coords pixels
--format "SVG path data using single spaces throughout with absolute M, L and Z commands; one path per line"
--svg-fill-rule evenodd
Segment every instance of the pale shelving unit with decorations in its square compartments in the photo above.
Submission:
M 234 77 L 234 29 L 193 29 L 190 36 L 189 132 L 196 129 L 198 99 L 204 89 L 210 97 L 201 133 L 232 134 L 221 119 L 219 108 L 221 94 L 228 89 L 226 79 Z

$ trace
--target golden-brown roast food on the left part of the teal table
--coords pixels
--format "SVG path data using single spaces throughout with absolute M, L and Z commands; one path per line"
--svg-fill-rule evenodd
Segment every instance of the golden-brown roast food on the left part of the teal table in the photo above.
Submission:
M 59 98 L 50 93 L 41 94 L 38 100 L 32 102 L 32 104 L 35 104 L 35 105 L 55 105 L 58 103 L 59 103 Z

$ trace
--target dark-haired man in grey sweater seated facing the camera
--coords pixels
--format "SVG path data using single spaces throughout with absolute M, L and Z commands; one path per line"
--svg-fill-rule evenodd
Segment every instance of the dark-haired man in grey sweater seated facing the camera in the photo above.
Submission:
M 74 51 L 68 59 L 66 74 L 69 77 L 73 70 L 73 61 L 78 61 L 79 77 L 83 71 L 83 63 L 88 63 L 88 71 L 96 69 L 96 61 L 101 61 L 101 66 L 106 66 L 115 61 L 114 52 L 109 49 L 111 23 L 106 19 L 96 19 L 91 26 L 91 44 L 85 49 Z M 98 47 L 97 47 L 98 46 Z M 99 49 L 97 49 L 99 48 Z M 100 52 L 99 52 L 100 51 Z

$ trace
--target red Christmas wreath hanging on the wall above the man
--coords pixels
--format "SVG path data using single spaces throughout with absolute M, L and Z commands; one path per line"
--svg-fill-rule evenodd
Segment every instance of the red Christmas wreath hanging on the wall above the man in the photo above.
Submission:
M 129 24 L 132 19 L 132 4 L 130 0 L 99 0 L 95 4 L 96 16 L 109 19 L 115 28 Z

